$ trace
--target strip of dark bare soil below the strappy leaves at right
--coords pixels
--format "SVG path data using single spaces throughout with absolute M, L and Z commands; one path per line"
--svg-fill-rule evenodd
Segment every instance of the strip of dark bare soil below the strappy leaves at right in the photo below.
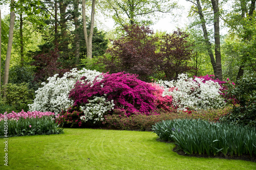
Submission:
M 163 141 L 163 140 L 160 140 L 159 138 L 157 139 L 158 141 L 161 141 L 161 142 L 167 142 L 167 143 L 171 143 L 170 141 Z M 237 155 L 224 155 L 222 153 L 220 153 L 219 155 L 210 155 L 208 156 L 207 154 L 192 154 L 192 155 L 188 155 L 186 154 L 184 151 L 182 151 L 181 149 L 178 148 L 178 146 L 176 145 L 176 147 L 173 149 L 174 152 L 176 152 L 177 154 L 179 155 L 182 155 L 182 156 L 188 156 L 188 157 L 197 157 L 197 158 L 219 158 L 219 159 L 235 159 L 235 160 L 245 160 L 245 161 L 251 161 L 251 162 L 256 162 L 256 156 L 252 156 L 250 157 L 250 155 L 241 155 L 241 156 L 237 156 Z

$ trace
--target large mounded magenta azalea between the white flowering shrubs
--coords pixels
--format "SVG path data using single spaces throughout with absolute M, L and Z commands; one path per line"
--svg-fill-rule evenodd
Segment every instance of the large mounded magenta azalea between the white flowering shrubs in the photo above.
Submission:
M 156 99 L 150 84 L 137 79 L 136 75 L 103 74 L 103 79 L 90 82 L 77 81 L 70 91 L 69 98 L 74 101 L 76 107 L 85 106 L 94 96 L 105 96 L 106 101 L 113 101 L 114 109 L 125 110 L 125 115 L 149 114 L 155 110 Z M 110 113 L 111 114 L 111 113 Z

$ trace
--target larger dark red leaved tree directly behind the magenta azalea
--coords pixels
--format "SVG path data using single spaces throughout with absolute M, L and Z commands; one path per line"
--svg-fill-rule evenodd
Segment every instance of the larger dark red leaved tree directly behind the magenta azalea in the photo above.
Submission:
M 125 71 L 137 74 L 140 80 L 148 81 L 159 65 L 159 55 L 155 53 L 158 38 L 144 26 L 128 25 L 123 30 L 125 34 L 114 40 L 113 47 L 106 51 L 111 57 L 103 59 L 105 68 L 111 73 Z

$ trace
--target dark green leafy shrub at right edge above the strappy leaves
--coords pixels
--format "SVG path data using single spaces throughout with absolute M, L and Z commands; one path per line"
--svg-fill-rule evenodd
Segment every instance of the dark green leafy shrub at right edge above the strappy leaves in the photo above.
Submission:
M 229 91 L 231 96 L 238 101 L 232 111 L 223 116 L 221 121 L 232 124 L 256 126 L 256 75 L 244 76 L 238 80 L 235 88 Z M 230 100 L 229 102 L 232 102 Z

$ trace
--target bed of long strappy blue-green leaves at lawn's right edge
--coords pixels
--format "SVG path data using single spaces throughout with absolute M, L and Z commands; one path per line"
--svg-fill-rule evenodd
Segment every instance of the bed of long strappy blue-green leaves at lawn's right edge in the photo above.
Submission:
M 153 126 L 160 139 L 175 141 L 187 154 L 256 155 L 256 129 L 205 120 L 165 120 Z

